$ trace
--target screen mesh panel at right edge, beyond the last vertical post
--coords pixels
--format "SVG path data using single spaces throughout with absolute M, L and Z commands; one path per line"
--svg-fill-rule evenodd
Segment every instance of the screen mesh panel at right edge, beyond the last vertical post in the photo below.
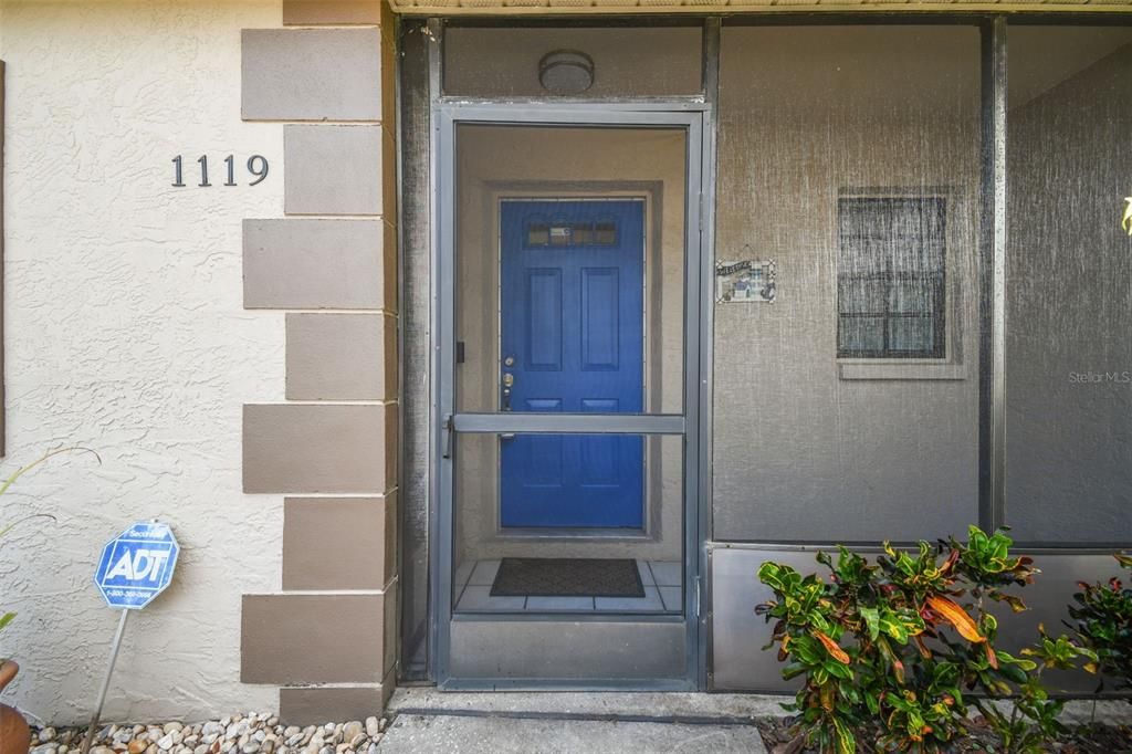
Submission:
M 1132 540 L 1132 29 L 1010 32 L 1006 522 Z

